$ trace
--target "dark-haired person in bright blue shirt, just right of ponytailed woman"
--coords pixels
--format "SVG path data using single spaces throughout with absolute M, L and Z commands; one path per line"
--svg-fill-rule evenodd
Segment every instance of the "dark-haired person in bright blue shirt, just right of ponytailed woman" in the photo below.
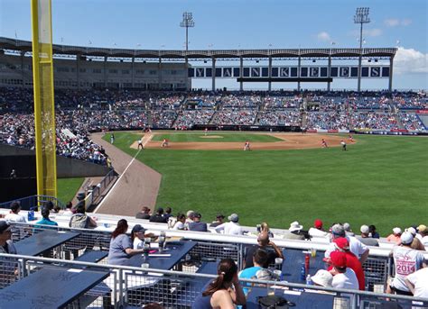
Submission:
M 252 259 L 254 266 L 241 270 L 238 277 L 257 280 L 272 280 L 274 278 L 272 272 L 267 269 L 269 265 L 268 253 L 265 250 L 257 249 L 254 251 Z M 245 286 L 251 286 L 251 284 L 246 283 Z M 244 293 L 247 295 L 248 287 L 244 287 Z

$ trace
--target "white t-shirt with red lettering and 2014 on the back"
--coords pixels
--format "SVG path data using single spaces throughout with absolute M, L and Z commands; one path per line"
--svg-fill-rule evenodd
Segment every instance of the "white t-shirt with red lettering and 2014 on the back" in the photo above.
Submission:
M 395 264 L 395 277 L 391 283 L 396 289 L 409 292 L 405 285 L 405 277 L 413 274 L 421 268 L 423 262 L 423 251 L 414 250 L 408 247 L 395 246 L 393 249 Z

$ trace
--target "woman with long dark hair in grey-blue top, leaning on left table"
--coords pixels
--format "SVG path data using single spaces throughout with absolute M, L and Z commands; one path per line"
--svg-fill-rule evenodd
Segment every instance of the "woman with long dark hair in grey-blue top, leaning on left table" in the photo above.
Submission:
M 135 254 L 144 253 L 143 249 L 133 249 L 133 243 L 126 231 L 128 223 L 125 219 L 117 222 L 116 230 L 111 233 L 110 249 L 108 250 L 108 264 L 126 265 L 129 258 Z

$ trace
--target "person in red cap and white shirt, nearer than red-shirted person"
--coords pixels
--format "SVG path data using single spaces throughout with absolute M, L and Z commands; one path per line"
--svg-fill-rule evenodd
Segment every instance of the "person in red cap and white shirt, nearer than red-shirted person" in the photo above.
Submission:
M 330 254 L 331 268 L 330 273 L 333 275 L 331 286 L 335 288 L 346 288 L 358 290 L 358 278 L 354 270 L 347 268 L 347 258 L 345 252 L 333 251 Z

